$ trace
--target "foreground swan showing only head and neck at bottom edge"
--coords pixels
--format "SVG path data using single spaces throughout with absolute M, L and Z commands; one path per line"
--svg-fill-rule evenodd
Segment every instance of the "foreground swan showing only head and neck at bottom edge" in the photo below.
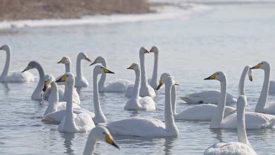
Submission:
M 85 145 L 83 155 L 93 155 L 97 141 L 106 142 L 120 149 L 114 142 L 114 139 L 109 130 L 104 126 L 99 125 L 91 130 Z

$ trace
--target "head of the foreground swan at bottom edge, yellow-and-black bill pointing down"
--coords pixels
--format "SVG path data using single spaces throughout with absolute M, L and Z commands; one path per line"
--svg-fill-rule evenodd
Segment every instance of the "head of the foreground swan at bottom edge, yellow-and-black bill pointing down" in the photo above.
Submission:
M 93 128 L 88 136 L 88 139 L 103 141 L 120 149 L 119 146 L 114 142 L 113 136 L 110 134 L 109 130 L 102 125 L 98 125 Z

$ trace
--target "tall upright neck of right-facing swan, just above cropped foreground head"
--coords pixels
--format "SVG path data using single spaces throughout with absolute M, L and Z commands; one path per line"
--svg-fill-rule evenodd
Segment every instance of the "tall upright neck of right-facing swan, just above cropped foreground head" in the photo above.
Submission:
M 105 74 L 105 73 L 103 73 Z M 106 123 L 106 118 L 101 110 L 99 98 L 98 98 L 98 84 L 97 84 L 98 73 L 93 73 L 93 84 L 94 84 L 94 110 L 95 110 L 95 120 L 100 120 L 100 123 Z M 103 122 L 102 122 L 103 121 Z M 95 122 L 98 123 L 98 122 Z

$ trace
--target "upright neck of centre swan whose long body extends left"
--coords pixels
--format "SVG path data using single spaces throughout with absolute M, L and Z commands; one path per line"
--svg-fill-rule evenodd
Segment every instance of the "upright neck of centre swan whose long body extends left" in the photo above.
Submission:
M 172 85 L 165 87 L 165 107 L 164 107 L 164 120 L 167 131 L 177 131 L 177 126 L 175 124 L 172 105 L 171 105 L 171 89 Z

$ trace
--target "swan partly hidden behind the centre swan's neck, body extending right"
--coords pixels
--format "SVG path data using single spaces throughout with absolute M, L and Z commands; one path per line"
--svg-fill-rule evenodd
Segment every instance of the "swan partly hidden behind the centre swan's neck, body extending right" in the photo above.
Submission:
M 157 90 L 164 84 L 166 77 L 172 76 L 169 73 L 163 73 L 160 76 L 159 85 Z M 188 108 L 180 113 L 176 112 L 176 87 L 172 86 L 172 111 L 175 119 L 178 120 L 211 120 L 216 109 L 214 104 L 202 104 L 196 105 L 194 107 Z M 236 109 L 233 107 L 226 106 L 225 108 L 225 117 L 236 112 Z

